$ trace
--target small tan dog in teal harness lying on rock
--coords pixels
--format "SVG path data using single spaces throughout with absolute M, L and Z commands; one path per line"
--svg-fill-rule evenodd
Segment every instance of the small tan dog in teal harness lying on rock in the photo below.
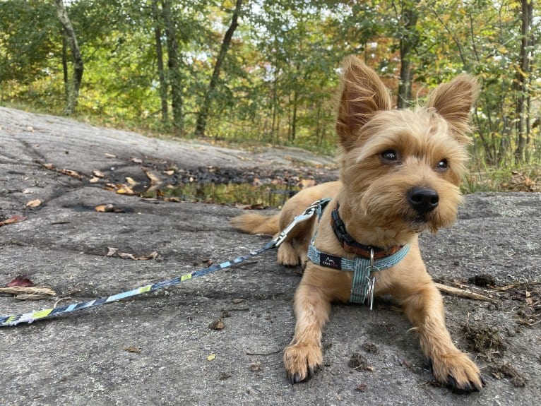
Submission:
M 370 301 L 373 293 L 391 294 L 401 304 L 437 381 L 465 392 L 482 388 L 480 370 L 451 340 L 441 294 L 417 241 L 420 232 L 436 232 L 456 219 L 477 93 L 475 78 L 460 75 L 432 91 L 426 107 L 391 109 L 376 73 L 347 57 L 336 124 L 340 181 L 304 189 L 279 215 L 232 219 L 244 232 L 275 234 L 314 201 L 332 198 L 319 220 L 298 225 L 278 248 L 284 265 L 309 256 L 295 293 L 295 336 L 284 351 L 292 383 L 312 376 L 323 362 L 321 329 L 331 302 Z

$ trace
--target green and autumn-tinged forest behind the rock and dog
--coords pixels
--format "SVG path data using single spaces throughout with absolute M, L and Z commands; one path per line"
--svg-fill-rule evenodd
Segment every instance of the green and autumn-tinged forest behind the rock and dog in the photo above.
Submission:
M 467 186 L 534 191 L 540 23 L 534 0 L 2 0 L 0 104 L 332 153 L 345 55 L 397 107 L 466 71 L 482 85 Z

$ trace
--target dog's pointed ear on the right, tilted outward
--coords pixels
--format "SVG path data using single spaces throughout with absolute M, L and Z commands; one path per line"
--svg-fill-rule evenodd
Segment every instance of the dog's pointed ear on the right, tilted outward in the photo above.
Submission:
M 463 73 L 443 83 L 428 95 L 427 107 L 433 107 L 448 122 L 453 135 L 462 143 L 470 143 L 470 109 L 479 95 L 479 83 Z

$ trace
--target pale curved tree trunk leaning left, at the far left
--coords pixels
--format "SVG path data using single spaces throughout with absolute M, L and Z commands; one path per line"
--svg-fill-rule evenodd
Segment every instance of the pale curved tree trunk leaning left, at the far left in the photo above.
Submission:
M 73 62 L 73 78 L 68 89 L 68 100 L 66 102 L 66 108 L 64 109 L 64 114 L 73 114 L 77 107 L 79 90 L 81 89 L 81 81 L 83 80 L 83 57 L 81 56 L 81 51 L 77 44 L 77 37 L 75 31 L 73 31 L 73 26 L 71 25 L 71 20 L 69 19 L 66 8 L 64 7 L 64 1 L 54 0 L 54 5 L 57 7 L 57 15 L 60 20 L 62 27 L 64 28 L 64 35 L 66 40 L 69 43 L 71 50 L 71 61 Z

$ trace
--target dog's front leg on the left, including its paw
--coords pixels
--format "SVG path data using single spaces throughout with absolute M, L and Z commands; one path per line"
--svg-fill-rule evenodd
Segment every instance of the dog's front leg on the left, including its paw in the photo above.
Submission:
M 295 336 L 284 350 L 285 371 L 291 383 L 304 381 L 321 366 L 321 328 L 330 311 L 331 301 L 323 290 L 301 282 L 295 293 Z

